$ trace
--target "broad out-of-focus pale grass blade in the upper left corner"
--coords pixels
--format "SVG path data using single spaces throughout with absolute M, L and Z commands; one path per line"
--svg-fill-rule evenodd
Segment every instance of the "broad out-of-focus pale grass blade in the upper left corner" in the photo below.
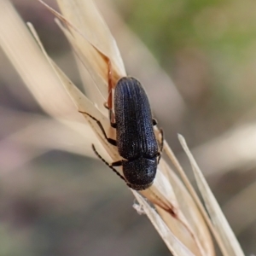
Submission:
M 0 46 L 47 113 L 81 120 L 24 22 L 7 0 L 0 1 Z

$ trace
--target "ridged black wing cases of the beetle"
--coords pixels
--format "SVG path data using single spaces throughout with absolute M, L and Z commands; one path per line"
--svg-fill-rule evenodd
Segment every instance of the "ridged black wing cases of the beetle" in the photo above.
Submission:
M 137 79 L 120 79 L 114 92 L 119 154 L 126 160 L 151 159 L 158 152 L 148 96 Z

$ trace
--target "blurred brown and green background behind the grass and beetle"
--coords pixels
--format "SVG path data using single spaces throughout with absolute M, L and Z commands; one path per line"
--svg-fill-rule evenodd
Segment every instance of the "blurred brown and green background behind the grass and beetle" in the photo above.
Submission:
M 81 86 L 53 15 L 37 1 L 13 3 Z M 187 139 L 244 252 L 255 253 L 256 2 L 96 3 L 189 177 L 177 133 Z M 170 255 L 148 218 L 131 207 L 129 189 L 94 158 L 90 141 L 83 149 L 73 131 L 44 113 L 2 49 L 0 124 L 0 255 Z

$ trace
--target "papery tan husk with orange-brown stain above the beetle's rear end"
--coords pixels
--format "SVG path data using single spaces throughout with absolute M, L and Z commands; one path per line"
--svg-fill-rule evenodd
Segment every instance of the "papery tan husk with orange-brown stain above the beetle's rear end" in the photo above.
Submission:
M 64 32 L 68 40 L 73 44 L 79 59 L 90 72 L 102 95 L 108 96 L 110 88 L 114 88 L 117 81 L 126 76 L 126 74 L 115 41 L 95 5 L 90 1 L 79 1 L 78 3 L 60 1 L 59 3 L 64 13 L 71 19 L 67 20 L 66 17 L 57 13 L 46 3 L 41 0 L 39 1 L 68 27 L 71 34 Z M 76 15 L 73 15 L 73 12 Z M 99 19 L 99 24 L 97 24 L 97 19 Z M 73 21 L 75 24 L 73 24 Z M 102 26 L 102 29 L 98 29 L 99 32 L 102 32 L 102 36 L 101 34 L 96 34 L 97 29 L 95 32 L 94 23 L 96 26 Z M 103 26 L 103 23 L 105 26 Z M 105 44 L 102 44 L 102 42 L 105 42 Z M 99 43 L 106 45 L 104 47 L 106 52 L 100 48 Z M 111 102 L 110 99 L 108 102 L 109 106 L 111 106 Z

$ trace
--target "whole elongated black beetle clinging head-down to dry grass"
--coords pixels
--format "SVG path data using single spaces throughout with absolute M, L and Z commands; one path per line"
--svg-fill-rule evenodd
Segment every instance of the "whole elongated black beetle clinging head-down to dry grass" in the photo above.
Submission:
M 117 146 L 120 156 L 125 160 L 113 162 L 111 165 L 102 158 L 93 146 L 97 156 L 104 161 L 119 177 L 125 180 L 131 189 L 148 189 L 154 181 L 160 154 L 163 148 L 163 131 L 161 132 L 160 151 L 154 135 L 148 96 L 137 79 L 124 77 L 119 79 L 114 88 L 114 113 L 108 108 L 111 125 L 116 128 L 116 141 L 108 138 L 100 121 L 96 120 L 108 143 Z M 84 112 L 82 112 L 84 113 Z M 112 120 L 115 120 L 115 123 Z M 158 158 L 158 159 L 157 159 Z M 123 166 L 124 177 L 113 166 Z

